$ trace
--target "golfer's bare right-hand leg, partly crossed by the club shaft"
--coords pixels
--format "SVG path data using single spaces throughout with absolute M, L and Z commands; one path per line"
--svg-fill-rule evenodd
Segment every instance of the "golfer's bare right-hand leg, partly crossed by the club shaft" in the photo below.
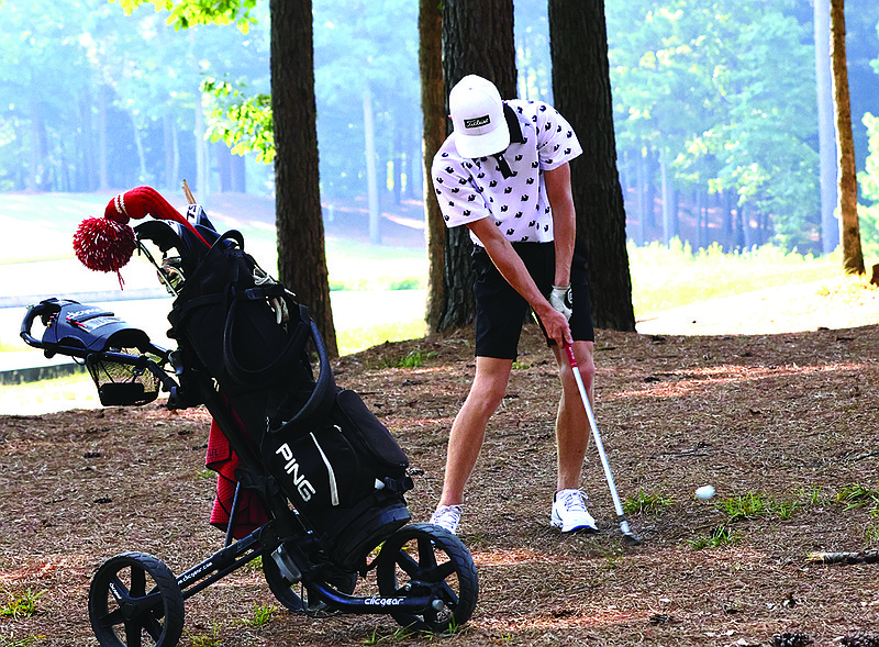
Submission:
M 596 375 L 596 365 L 592 359 L 592 342 L 575 342 L 574 355 L 580 368 L 586 392 L 590 403 L 592 399 L 592 380 Z M 558 483 L 557 490 L 576 490 L 580 487 L 586 448 L 589 445 L 590 427 L 586 416 L 582 398 L 577 388 L 567 354 L 564 349 L 553 346 L 559 367 L 561 379 L 561 399 L 558 403 L 556 416 L 556 444 L 558 449 Z

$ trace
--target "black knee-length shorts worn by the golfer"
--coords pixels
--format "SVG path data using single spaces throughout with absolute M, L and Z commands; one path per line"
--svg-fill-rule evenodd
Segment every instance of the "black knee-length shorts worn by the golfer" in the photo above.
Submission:
M 513 249 L 524 261 L 537 289 L 548 297 L 556 274 L 555 245 L 514 243 Z M 501 276 L 482 247 L 474 248 L 472 263 L 476 274 L 476 355 L 515 359 L 522 324 L 530 316 L 531 306 Z M 574 300 L 570 332 L 574 341 L 594 342 L 589 286 L 586 281 L 586 256 L 579 245 L 571 260 L 570 285 Z

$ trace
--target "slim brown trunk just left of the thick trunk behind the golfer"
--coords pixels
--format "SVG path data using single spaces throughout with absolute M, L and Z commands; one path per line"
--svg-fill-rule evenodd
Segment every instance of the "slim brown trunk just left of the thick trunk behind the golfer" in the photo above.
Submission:
M 443 10 L 436 0 L 419 1 L 419 68 L 421 74 L 422 167 L 424 193 L 424 238 L 427 247 L 427 300 L 424 319 L 436 332 L 443 311 L 444 253 L 446 225 L 431 182 L 433 156 L 446 137 L 446 111 L 443 93 Z

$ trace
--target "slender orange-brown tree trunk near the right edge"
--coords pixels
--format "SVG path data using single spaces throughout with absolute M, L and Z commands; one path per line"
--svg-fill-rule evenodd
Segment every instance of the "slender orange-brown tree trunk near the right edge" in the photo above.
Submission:
M 858 225 L 858 178 L 855 141 L 852 135 L 852 102 L 848 96 L 848 64 L 845 54 L 845 1 L 831 0 L 831 60 L 836 113 L 836 149 L 839 157 L 839 213 L 843 268 L 864 274 L 864 254 Z

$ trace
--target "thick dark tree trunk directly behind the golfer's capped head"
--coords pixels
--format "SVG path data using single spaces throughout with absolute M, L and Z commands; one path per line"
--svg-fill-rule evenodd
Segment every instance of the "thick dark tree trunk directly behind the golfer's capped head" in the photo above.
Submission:
M 505 99 L 515 97 L 512 0 L 446 0 L 443 2 L 443 43 L 446 99 L 448 90 L 468 74 L 492 81 Z M 437 330 L 465 326 L 474 320 L 471 252 L 469 230 L 452 228 L 446 238 L 444 301 Z

